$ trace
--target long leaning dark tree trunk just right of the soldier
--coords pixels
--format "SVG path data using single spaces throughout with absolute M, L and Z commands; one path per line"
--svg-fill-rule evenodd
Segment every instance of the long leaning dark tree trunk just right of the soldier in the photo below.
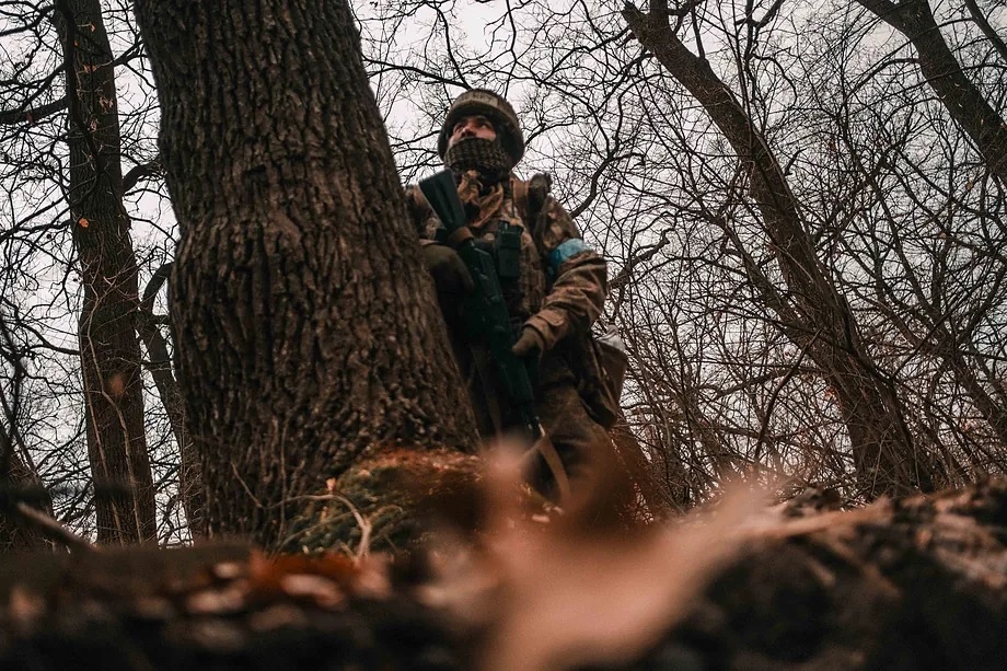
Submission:
M 849 433 L 861 494 L 930 488 L 934 474 L 917 453 L 894 384 L 875 366 L 846 299 L 818 259 L 797 198 L 765 138 L 709 63 L 674 34 L 667 2 L 651 7 L 644 14 L 627 4 L 623 16 L 639 43 L 699 101 L 746 166 L 787 290 L 780 292 L 755 264 L 746 264 L 749 274 L 787 336 L 824 371 Z

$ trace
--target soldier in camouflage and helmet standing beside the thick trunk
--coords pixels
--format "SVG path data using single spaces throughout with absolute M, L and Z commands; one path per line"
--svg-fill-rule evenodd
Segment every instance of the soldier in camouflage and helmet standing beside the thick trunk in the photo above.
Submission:
M 605 299 L 605 262 L 583 242 L 574 220 L 548 195 L 546 175 L 525 183 L 511 172 L 524 154 L 524 138 L 513 108 L 504 97 L 481 89 L 462 93 L 448 111 L 438 153 L 455 176 L 477 244 L 499 258 L 495 247 L 502 244 L 501 231 L 520 230 L 520 247 L 516 250 L 520 271 L 498 273 L 508 313 L 516 333 L 520 333 L 513 351 L 537 361 L 533 379 L 536 409 L 569 481 L 569 507 L 582 508 L 598 491 L 603 473 L 611 473 L 613 463 L 611 440 L 599 424 L 606 421 L 606 412 L 597 403 L 590 407 L 590 400 L 599 395 L 594 389 L 599 377 L 590 371 L 586 374 L 591 366 L 597 368 L 589 347 L 590 329 Z M 495 383 L 494 368 L 485 349 L 466 342 L 464 335 L 461 308 L 472 289 L 472 278 L 454 250 L 437 243 L 440 222 L 419 189 L 410 186 L 407 195 L 424 262 L 435 280 L 481 435 L 505 433 L 512 425 L 507 401 Z M 611 405 L 611 396 L 607 400 Z M 544 464 L 539 465 L 533 482 L 555 497 L 556 483 Z

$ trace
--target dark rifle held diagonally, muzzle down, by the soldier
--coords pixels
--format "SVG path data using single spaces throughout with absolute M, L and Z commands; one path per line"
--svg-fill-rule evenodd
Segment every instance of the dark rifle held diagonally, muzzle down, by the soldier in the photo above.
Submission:
M 559 500 L 566 501 L 569 499 L 569 481 L 535 413 L 535 394 L 528 367 L 512 350 L 514 332 L 493 255 L 476 246 L 450 171 L 441 171 L 432 177 L 420 180 L 419 190 L 444 225 L 448 244 L 458 252 L 472 276 L 475 288 L 465 303 L 468 334 L 486 344 L 502 391 L 517 415 L 517 428 L 545 459 L 559 489 Z

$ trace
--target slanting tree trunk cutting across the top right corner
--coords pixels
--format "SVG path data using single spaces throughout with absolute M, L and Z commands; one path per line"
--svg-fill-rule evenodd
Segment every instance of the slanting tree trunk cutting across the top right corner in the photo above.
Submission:
M 927 0 L 857 1 L 908 38 L 927 83 L 951 118 L 975 142 L 989 172 L 1007 185 L 1007 124 L 962 71 L 940 34 Z

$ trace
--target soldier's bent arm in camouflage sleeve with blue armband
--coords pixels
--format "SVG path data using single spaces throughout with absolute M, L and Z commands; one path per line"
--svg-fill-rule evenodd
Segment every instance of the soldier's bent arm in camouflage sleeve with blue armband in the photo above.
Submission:
M 546 349 L 570 332 L 587 332 L 605 302 L 605 259 L 589 247 L 569 213 L 549 196 L 535 222 L 535 243 L 552 288 L 539 312 L 525 322 Z

